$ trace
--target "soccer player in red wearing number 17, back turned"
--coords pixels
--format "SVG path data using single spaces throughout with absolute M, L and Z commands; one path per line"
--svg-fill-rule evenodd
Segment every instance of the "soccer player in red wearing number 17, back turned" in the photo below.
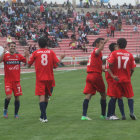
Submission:
M 131 76 L 136 67 L 133 55 L 125 50 L 127 46 L 127 41 L 125 38 L 120 38 L 117 40 L 118 50 L 112 52 L 108 59 L 110 68 L 114 68 L 115 71 L 109 69 L 109 73 L 112 78 L 116 81 L 117 95 L 124 96 L 128 99 L 128 106 L 130 110 L 130 117 L 132 120 L 136 120 L 134 115 L 134 101 L 133 101 L 133 89 L 131 84 Z M 115 88 L 116 89 L 116 88 Z M 113 101 L 114 102 L 114 101 Z M 114 106 L 115 104 L 112 103 Z M 114 107 L 113 107 L 114 108 Z

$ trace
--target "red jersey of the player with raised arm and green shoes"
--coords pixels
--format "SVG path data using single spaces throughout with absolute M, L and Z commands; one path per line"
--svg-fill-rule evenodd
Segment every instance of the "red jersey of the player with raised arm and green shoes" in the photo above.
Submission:
M 96 55 L 95 51 L 97 49 L 98 48 L 95 48 L 89 57 L 87 64 L 87 73 L 90 72 L 102 73 L 102 53 L 100 52 L 99 55 Z

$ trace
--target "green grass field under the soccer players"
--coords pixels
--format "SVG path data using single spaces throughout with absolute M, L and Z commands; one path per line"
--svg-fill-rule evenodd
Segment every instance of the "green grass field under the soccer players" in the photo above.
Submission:
M 14 98 L 3 118 L 4 81 L 0 76 L 0 140 L 139 140 L 140 139 L 140 68 L 133 77 L 135 114 L 129 117 L 127 100 L 124 99 L 127 120 L 100 120 L 100 95 L 97 93 L 89 104 L 88 116 L 92 121 L 81 121 L 86 71 L 55 71 L 56 87 L 48 105 L 48 123 L 39 121 L 38 97 L 35 92 L 35 74 L 22 74 L 20 118 L 14 118 Z M 109 98 L 107 98 L 107 101 Z M 116 114 L 120 117 L 118 106 Z

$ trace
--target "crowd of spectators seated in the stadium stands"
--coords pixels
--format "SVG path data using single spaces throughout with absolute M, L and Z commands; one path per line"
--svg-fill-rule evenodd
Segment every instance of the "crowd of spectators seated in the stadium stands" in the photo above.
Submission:
M 92 1 L 87 3 L 95 5 Z M 51 47 L 59 47 L 59 41 L 71 38 L 72 42 L 76 41 L 76 47 L 70 45 L 72 49 L 87 51 L 87 35 L 99 35 L 100 29 L 106 29 L 107 36 L 114 37 L 116 30 L 122 30 L 122 20 L 126 24 L 134 24 L 135 31 L 138 31 L 137 25 L 140 24 L 140 11 L 132 9 L 120 11 L 118 7 L 118 10 L 107 12 L 85 12 L 81 9 L 77 12 L 69 0 L 63 6 L 65 8 L 53 8 L 58 7 L 58 4 L 41 4 L 40 1 L 31 0 L 26 0 L 25 5 L 19 2 L 12 6 L 8 2 L 0 2 L 0 37 L 7 37 L 7 42 L 11 41 L 11 37 L 15 38 L 26 46 L 28 40 L 37 42 L 39 37 L 46 36 Z

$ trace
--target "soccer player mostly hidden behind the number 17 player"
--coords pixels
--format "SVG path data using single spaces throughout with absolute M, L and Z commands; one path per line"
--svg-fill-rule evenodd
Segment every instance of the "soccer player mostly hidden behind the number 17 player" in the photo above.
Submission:
M 109 50 L 111 52 L 118 50 L 118 45 L 116 43 L 111 43 L 109 45 Z M 108 103 L 108 113 L 107 113 L 107 118 L 108 120 L 118 120 L 119 118 L 115 115 L 115 105 L 112 105 L 113 103 L 116 104 L 116 100 L 118 99 L 118 106 L 120 108 L 120 112 L 122 114 L 122 120 L 125 120 L 125 113 L 124 113 L 124 104 L 123 104 L 123 100 L 122 100 L 122 96 L 118 96 L 117 95 L 117 87 L 115 86 L 116 83 L 113 80 L 113 78 L 111 77 L 111 75 L 108 73 L 107 68 L 109 67 L 108 64 L 108 59 L 110 57 L 111 53 L 109 54 L 108 58 L 106 59 L 106 71 L 105 71 L 105 77 L 106 77 L 106 81 L 108 84 L 108 88 L 107 88 L 107 95 L 109 97 L 111 97 L 109 103 Z M 115 71 L 115 69 L 111 68 L 111 71 Z M 113 107 L 113 108 L 112 108 Z

